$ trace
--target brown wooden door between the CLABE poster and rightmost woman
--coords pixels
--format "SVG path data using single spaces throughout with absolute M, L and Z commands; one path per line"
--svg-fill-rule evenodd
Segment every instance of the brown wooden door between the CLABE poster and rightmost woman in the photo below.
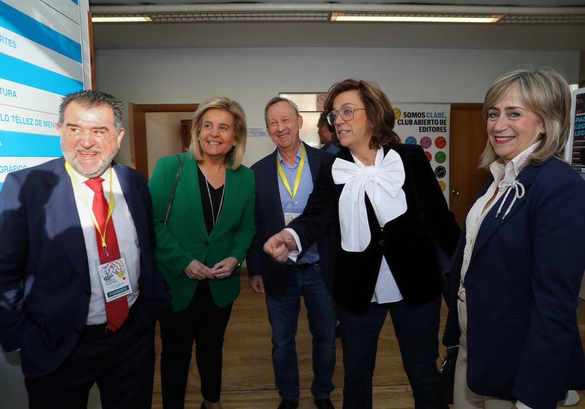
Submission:
M 463 226 L 477 194 L 490 173 L 477 168 L 487 143 L 481 103 L 453 103 L 450 129 L 449 204 L 459 226 Z

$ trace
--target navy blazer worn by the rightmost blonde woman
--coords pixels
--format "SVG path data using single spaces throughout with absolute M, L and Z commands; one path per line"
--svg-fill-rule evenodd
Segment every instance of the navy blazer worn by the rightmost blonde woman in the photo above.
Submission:
M 508 216 L 513 192 L 486 215 L 465 276 L 467 384 L 477 394 L 553 409 L 567 390 L 585 389 L 577 327 L 585 271 L 585 181 L 550 158 L 522 169 L 525 196 Z M 487 182 L 479 197 L 493 183 Z M 459 343 L 457 290 L 465 230 L 453 256 L 443 344 Z

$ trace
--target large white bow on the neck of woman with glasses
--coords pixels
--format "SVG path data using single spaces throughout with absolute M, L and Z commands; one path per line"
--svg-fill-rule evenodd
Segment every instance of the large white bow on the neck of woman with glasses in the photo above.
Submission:
M 345 251 L 364 251 L 371 240 L 364 195 L 367 193 L 380 226 L 406 212 L 404 164 L 394 150 L 384 157 L 383 148 L 378 149 L 373 166 L 352 156 L 355 163 L 337 158 L 331 174 L 337 185 L 345 183 L 339 197 L 341 247 Z

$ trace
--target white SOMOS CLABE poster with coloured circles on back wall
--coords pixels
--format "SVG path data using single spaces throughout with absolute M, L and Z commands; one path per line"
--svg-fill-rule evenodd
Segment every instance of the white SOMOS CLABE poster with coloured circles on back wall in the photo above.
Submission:
M 402 143 L 418 144 L 425 151 L 443 195 L 449 204 L 449 104 L 393 104 L 394 130 Z

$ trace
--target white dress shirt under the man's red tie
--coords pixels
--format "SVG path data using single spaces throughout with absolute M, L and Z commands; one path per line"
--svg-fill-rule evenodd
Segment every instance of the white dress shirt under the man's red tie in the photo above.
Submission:
M 90 309 L 85 324 L 104 324 L 107 321 L 104 290 L 102 290 L 101 279 L 99 278 L 97 269 L 97 266 L 99 265 L 98 245 L 95 240 L 95 226 L 90 213 L 94 201 L 94 191 L 84 183 L 88 178 L 75 172 L 73 167 L 69 167 L 69 172 L 75 176 L 75 181 L 71 178 L 71 184 L 73 185 L 75 204 L 77 206 L 77 213 L 79 214 L 79 221 L 83 231 L 85 251 L 87 252 L 88 267 L 90 269 Z M 108 203 L 110 199 L 109 175 L 109 168 L 103 175 L 101 175 L 101 178 L 104 179 L 104 182 L 102 182 L 102 186 L 104 186 L 104 196 Z M 112 213 L 113 226 L 116 229 L 118 247 L 120 249 L 120 254 L 126 261 L 130 285 L 132 286 L 132 293 L 126 296 L 128 299 L 128 307 L 131 307 L 132 304 L 134 304 L 134 301 L 136 301 L 139 293 L 138 279 L 140 278 L 140 247 L 132 214 L 130 214 L 128 204 L 122 193 L 122 187 L 118 181 L 118 176 L 116 176 L 116 172 L 113 169 L 112 190 L 114 197 L 114 208 Z

